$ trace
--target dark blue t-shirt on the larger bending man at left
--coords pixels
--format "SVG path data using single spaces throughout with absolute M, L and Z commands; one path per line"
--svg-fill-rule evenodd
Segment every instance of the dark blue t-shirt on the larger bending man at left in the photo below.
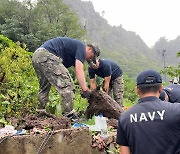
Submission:
M 46 41 L 41 47 L 61 57 L 66 68 L 75 66 L 76 59 L 82 63 L 85 61 L 85 44 L 76 39 L 58 37 Z

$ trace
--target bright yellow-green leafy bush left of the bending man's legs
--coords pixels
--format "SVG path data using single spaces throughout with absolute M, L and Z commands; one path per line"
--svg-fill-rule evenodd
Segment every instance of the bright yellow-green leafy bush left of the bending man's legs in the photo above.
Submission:
M 0 117 L 33 112 L 37 80 L 31 53 L 0 35 Z

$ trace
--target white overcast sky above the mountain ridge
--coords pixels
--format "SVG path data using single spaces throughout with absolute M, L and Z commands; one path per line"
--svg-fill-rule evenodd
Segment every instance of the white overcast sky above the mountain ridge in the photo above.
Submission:
M 160 37 L 168 40 L 180 35 L 180 0 L 86 0 L 96 12 L 105 11 L 110 25 L 134 31 L 149 46 Z

